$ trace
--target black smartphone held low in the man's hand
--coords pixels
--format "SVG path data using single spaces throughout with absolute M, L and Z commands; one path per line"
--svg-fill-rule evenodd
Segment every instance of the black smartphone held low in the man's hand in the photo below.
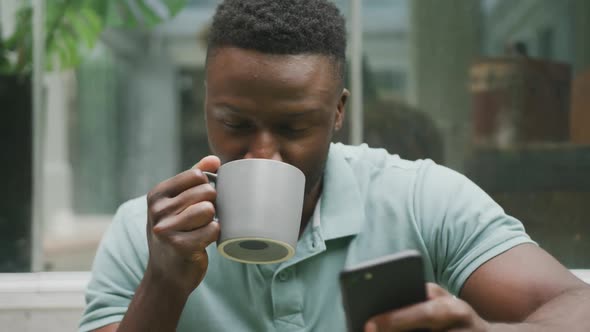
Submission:
M 422 256 L 406 250 L 340 272 L 349 332 L 363 331 L 373 316 L 426 300 Z

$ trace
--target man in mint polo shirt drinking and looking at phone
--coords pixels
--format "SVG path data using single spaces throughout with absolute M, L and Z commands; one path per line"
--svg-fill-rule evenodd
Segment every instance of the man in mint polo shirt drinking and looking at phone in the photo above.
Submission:
M 344 53 L 344 20 L 327 0 L 218 7 L 205 102 L 214 156 L 119 209 L 81 330 L 342 331 L 340 270 L 403 249 L 423 255 L 429 300 L 374 317 L 366 331 L 590 330 L 589 288 L 465 177 L 330 144 L 349 97 Z M 212 244 L 216 193 L 202 171 L 241 158 L 282 160 L 306 176 L 289 261 L 236 263 Z

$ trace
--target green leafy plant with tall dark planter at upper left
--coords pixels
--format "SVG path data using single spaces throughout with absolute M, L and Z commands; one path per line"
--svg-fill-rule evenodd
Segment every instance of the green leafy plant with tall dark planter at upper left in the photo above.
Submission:
M 0 0 L 2 1 L 2 0 Z M 31 269 L 32 1 L 16 12 L 14 32 L 0 38 L 0 272 Z M 47 71 L 75 68 L 106 28 L 149 28 L 172 18 L 186 0 L 45 1 Z

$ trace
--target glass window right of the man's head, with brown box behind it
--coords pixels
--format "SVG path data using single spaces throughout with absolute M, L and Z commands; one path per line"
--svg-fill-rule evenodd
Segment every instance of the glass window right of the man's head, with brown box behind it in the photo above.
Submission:
M 467 174 L 570 268 L 590 266 L 589 8 L 363 2 L 365 141 Z

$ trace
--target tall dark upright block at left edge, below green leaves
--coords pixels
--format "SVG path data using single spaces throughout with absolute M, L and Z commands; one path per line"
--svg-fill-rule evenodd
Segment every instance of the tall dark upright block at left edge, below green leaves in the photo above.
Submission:
M 0 75 L 0 272 L 31 269 L 32 106 L 29 77 Z

